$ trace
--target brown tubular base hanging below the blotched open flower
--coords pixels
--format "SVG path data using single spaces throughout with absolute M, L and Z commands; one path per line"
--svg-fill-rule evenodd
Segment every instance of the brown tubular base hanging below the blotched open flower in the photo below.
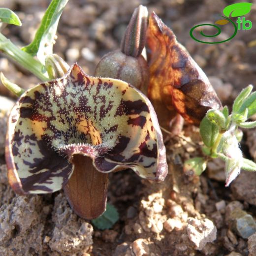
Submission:
M 67 200 L 81 218 L 92 220 L 106 209 L 108 174 L 95 169 L 92 160 L 74 155 L 74 171 L 64 187 Z

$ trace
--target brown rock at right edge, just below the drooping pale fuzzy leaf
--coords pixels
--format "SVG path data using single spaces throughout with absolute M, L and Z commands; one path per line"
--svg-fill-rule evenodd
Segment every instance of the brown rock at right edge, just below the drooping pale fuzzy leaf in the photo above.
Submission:
M 234 199 L 244 200 L 256 205 L 256 173 L 241 171 L 241 174 L 232 183 L 231 191 Z

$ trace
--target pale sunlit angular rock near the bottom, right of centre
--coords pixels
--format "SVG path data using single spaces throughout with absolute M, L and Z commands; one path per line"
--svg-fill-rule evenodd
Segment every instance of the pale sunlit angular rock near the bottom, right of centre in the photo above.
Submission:
M 187 233 L 196 250 L 202 250 L 208 242 L 216 239 L 217 228 L 208 219 L 188 218 Z

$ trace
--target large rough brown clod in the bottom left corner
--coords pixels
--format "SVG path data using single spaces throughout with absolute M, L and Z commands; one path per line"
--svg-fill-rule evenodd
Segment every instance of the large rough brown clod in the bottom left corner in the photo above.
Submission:
M 46 220 L 42 206 L 41 196 L 30 195 L 15 196 L 0 207 L 0 255 L 42 255 Z

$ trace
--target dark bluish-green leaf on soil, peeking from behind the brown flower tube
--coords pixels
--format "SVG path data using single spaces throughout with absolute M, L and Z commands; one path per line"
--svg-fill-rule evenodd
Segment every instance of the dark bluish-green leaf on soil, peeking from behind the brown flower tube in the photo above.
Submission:
M 92 223 L 98 229 L 108 229 L 111 228 L 119 220 L 119 214 L 115 206 L 107 203 L 106 211 L 100 215 L 98 218 L 92 220 Z

